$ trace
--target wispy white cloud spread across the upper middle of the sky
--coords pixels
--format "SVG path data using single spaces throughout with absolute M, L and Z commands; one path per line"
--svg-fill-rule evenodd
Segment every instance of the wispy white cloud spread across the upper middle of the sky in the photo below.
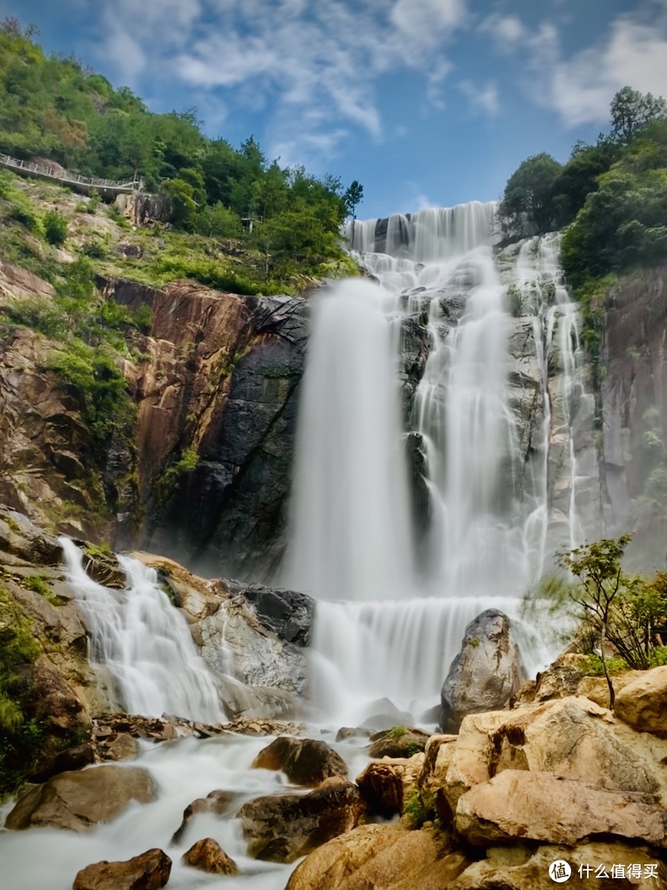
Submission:
M 426 101 L 444 108 L 446 45 L 469 23 L 467 2 L 100 0 L 99 52 L 135 88 L 162 81 L 203 109 L 207 95 L 270 109 L 269 153 L 299 142 L 325 155 L 350 125 L 382 140 L 387 72 L 421 74 Z

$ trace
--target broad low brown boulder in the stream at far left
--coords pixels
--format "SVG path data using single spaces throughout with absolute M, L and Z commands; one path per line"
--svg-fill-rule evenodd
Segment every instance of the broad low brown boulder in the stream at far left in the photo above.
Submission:
M 105 765 L 60 773 L 20 797 L 4 827 L 87 831 L 97 822 L 115 819 L 133 801 L 148 804 L 155 797 L 150 773 L 138 767 Z

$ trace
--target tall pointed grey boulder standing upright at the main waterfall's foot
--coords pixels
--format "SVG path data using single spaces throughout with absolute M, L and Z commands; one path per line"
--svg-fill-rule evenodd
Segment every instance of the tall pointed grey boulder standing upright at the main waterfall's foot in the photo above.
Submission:
M 510 620 L 487 609 L 465 630 L 442 687 L 442 728 L 456 732 L 467 714 L 502 708 L 525 680 Z

